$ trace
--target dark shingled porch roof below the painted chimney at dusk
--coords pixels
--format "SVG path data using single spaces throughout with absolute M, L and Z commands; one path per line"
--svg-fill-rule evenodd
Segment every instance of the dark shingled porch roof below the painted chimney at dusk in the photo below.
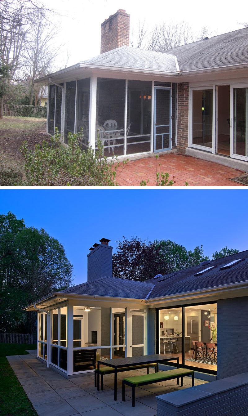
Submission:
M 59 293 L 145 299 L 153 285 L 154 283 L 150 282 L 101 277 L 93 282 L 86 282 L 61 290 Z

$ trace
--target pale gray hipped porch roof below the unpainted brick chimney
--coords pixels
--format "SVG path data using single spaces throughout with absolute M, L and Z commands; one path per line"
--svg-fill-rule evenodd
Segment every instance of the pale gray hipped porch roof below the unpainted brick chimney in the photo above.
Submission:
M 164 52 L 154 52 L 136 49 L 129 46 L 121 46 L 109 52 L 81 62 L 106 67 L 120 67 L 127 69 L 140 69 L 151 72 L 177 73 L 175 57 Z

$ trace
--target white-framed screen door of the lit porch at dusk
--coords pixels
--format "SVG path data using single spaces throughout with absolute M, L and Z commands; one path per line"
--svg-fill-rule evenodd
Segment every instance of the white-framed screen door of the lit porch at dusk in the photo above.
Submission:
M 131 313 L 131 342 L 132 357 L 144 355 L 145 347 L 145 314 Z

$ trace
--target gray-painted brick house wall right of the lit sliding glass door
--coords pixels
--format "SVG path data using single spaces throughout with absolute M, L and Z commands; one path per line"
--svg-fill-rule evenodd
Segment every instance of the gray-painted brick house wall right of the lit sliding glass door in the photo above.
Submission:
M 217 301 L 217 379 L 248 371 L 247 319 L 248 297 Z

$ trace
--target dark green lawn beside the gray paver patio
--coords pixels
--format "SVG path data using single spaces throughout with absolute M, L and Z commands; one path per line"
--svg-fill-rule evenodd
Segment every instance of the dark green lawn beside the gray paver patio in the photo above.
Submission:
M 0 416 L 37 416 L 6 358 L 28 354 L 26 349 L 36 349 L 36 345 L 0 343 Z

